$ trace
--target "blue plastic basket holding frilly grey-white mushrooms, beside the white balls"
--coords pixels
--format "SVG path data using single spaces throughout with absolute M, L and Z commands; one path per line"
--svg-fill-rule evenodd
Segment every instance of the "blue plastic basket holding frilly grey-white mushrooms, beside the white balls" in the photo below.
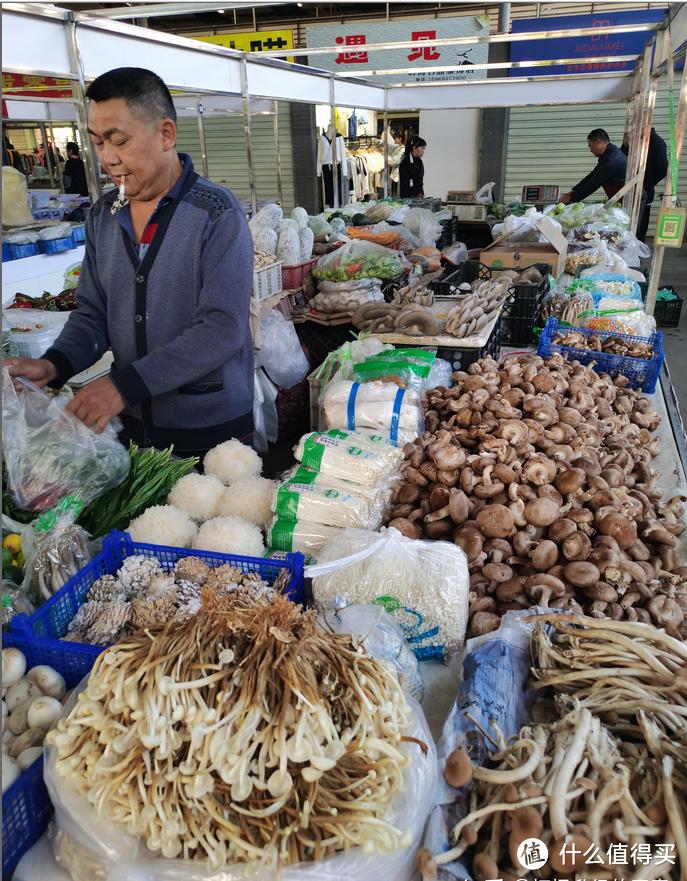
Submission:
M 12 632 L 29 640 L 37 640 L 39 643 L 69 646 L 70 649 L 78 647 L 86 656 L 95 660 L 102 652 L 102 646 L 60 640 L 67 635 L 70 621 L 79 606 L 85 602 L 86 594 L 98 578 L 102 575 L 116 575 L 124 560 L 134 554 L 157 557 L 163 568 L 168 570 L 171 570 L 182 557 L 199 557 L 212 567 L 229 563 L 242 572 L 257 570 L 268 584 L 276 581 L 282 569 L 289 569 L 292 578 L 287 596 L 293 602 L 305 605 L 302 554 L 287 554 L 285 560 L 265 560 L 260 557 L 239 557 L 234 554 L 216 554 L 212 551 L 139 544 L 134 542 L 128 533 L 114 529 L 103 539 L 101 553 L 58 590 L 55 596 L 39 606 L 33 615 L 19 614 L 12 619 Z

